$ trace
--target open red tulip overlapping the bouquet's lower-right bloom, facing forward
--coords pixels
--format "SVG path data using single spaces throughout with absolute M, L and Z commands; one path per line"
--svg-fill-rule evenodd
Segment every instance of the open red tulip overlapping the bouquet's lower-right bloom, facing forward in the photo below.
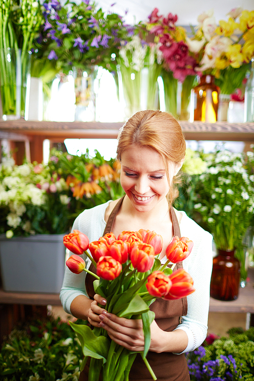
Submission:
M 153 271 L 147 278 L 146 288 L 150 295 L 162 297 L 169 293 L 172 281 L 162 271 Z

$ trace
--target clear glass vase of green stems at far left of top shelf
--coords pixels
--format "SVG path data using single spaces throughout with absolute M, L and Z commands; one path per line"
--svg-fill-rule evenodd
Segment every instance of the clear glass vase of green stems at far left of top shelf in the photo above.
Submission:
M 0 49 L 0 88 L 3 119 L 12 120 L 28 114 L 30 52 Z

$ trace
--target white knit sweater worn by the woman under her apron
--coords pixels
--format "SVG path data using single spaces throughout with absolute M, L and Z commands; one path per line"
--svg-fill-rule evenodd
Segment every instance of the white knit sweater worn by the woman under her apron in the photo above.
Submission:
M 91 209 L 84 210 L 75 220 L 73 230 L 77 229 L 85 233 L 89 241 L 98 240 L 104 232 L 106 221 L 105 211 L 110 201 Z M 182 316 L 181 324 L 176 329 L 182 329 L 188 336 L 188 345 L 183 352 L 194 351 L 206 338 L 207 321 L 209 310 L 210 278 L 212 271 L 212 235 L 203 230 L 198 224 L 190 219 L 185 212 L 181 211 L 180 221 L 181 237 L 188 237 L 194 242 L 190 255 L 183 261 L 183 268 L 194 280 L 196 291 L 187 296 L 188 312 Z M 70 255 L 72 253 L 70 252 Z M 85 255 L 82 258 L 86 262 L 86 268 L 90 266 L 90 260 Z M 165 259 L 162 263 L 166 262 Z M 86 272 L 81 274 L 72 273 L 67 267 L 63 279 L 60 299 L 66 312 L 71 313 L 70 306 L 78 295 L 87 295 L 85 290 Z

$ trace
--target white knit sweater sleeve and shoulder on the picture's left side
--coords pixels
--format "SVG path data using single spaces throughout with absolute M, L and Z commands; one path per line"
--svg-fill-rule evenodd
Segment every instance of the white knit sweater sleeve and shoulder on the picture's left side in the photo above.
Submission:
M 106 204 L 98 205 L 91 209 L 85 209 L 75 219 L 72 231 L 79 230 L 87 235 L 89 242 L 98 240 L 104 232 L 106 222 L 104 219 L 105 211 L 110 201 Z M 73 253 L 70 251 L 68 258 Z M 89 269 L 91 261 L 84 254 L 80 257 L 86 263 L 86 268 Z M 87 296 L 85 289 L 85 277 L 86 272 L 82 271 L 80 274 L 74 274 L 68 267 L 65 267 L 65 275 L 63 277 L 63 283 L 60 291 L 60 300 L 63 309 L 71 314 L 72 301 L 79 295 Z

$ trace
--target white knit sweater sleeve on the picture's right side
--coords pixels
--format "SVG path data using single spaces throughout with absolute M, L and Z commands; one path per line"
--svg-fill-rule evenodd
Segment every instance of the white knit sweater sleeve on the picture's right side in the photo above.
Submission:
M 183 268 L 194 280 L 195 292 L 187 296 L 187 315 L 182 316 L 176 329 L 188 336 L 188 344 L 182 353 L 194 351 L 207 335 L 212 272 L 212 235 L 204 231 L 192 219 L 185 216 L 180 224 L 181 236 L 194 242 L 193 251 L 183 261 Z

